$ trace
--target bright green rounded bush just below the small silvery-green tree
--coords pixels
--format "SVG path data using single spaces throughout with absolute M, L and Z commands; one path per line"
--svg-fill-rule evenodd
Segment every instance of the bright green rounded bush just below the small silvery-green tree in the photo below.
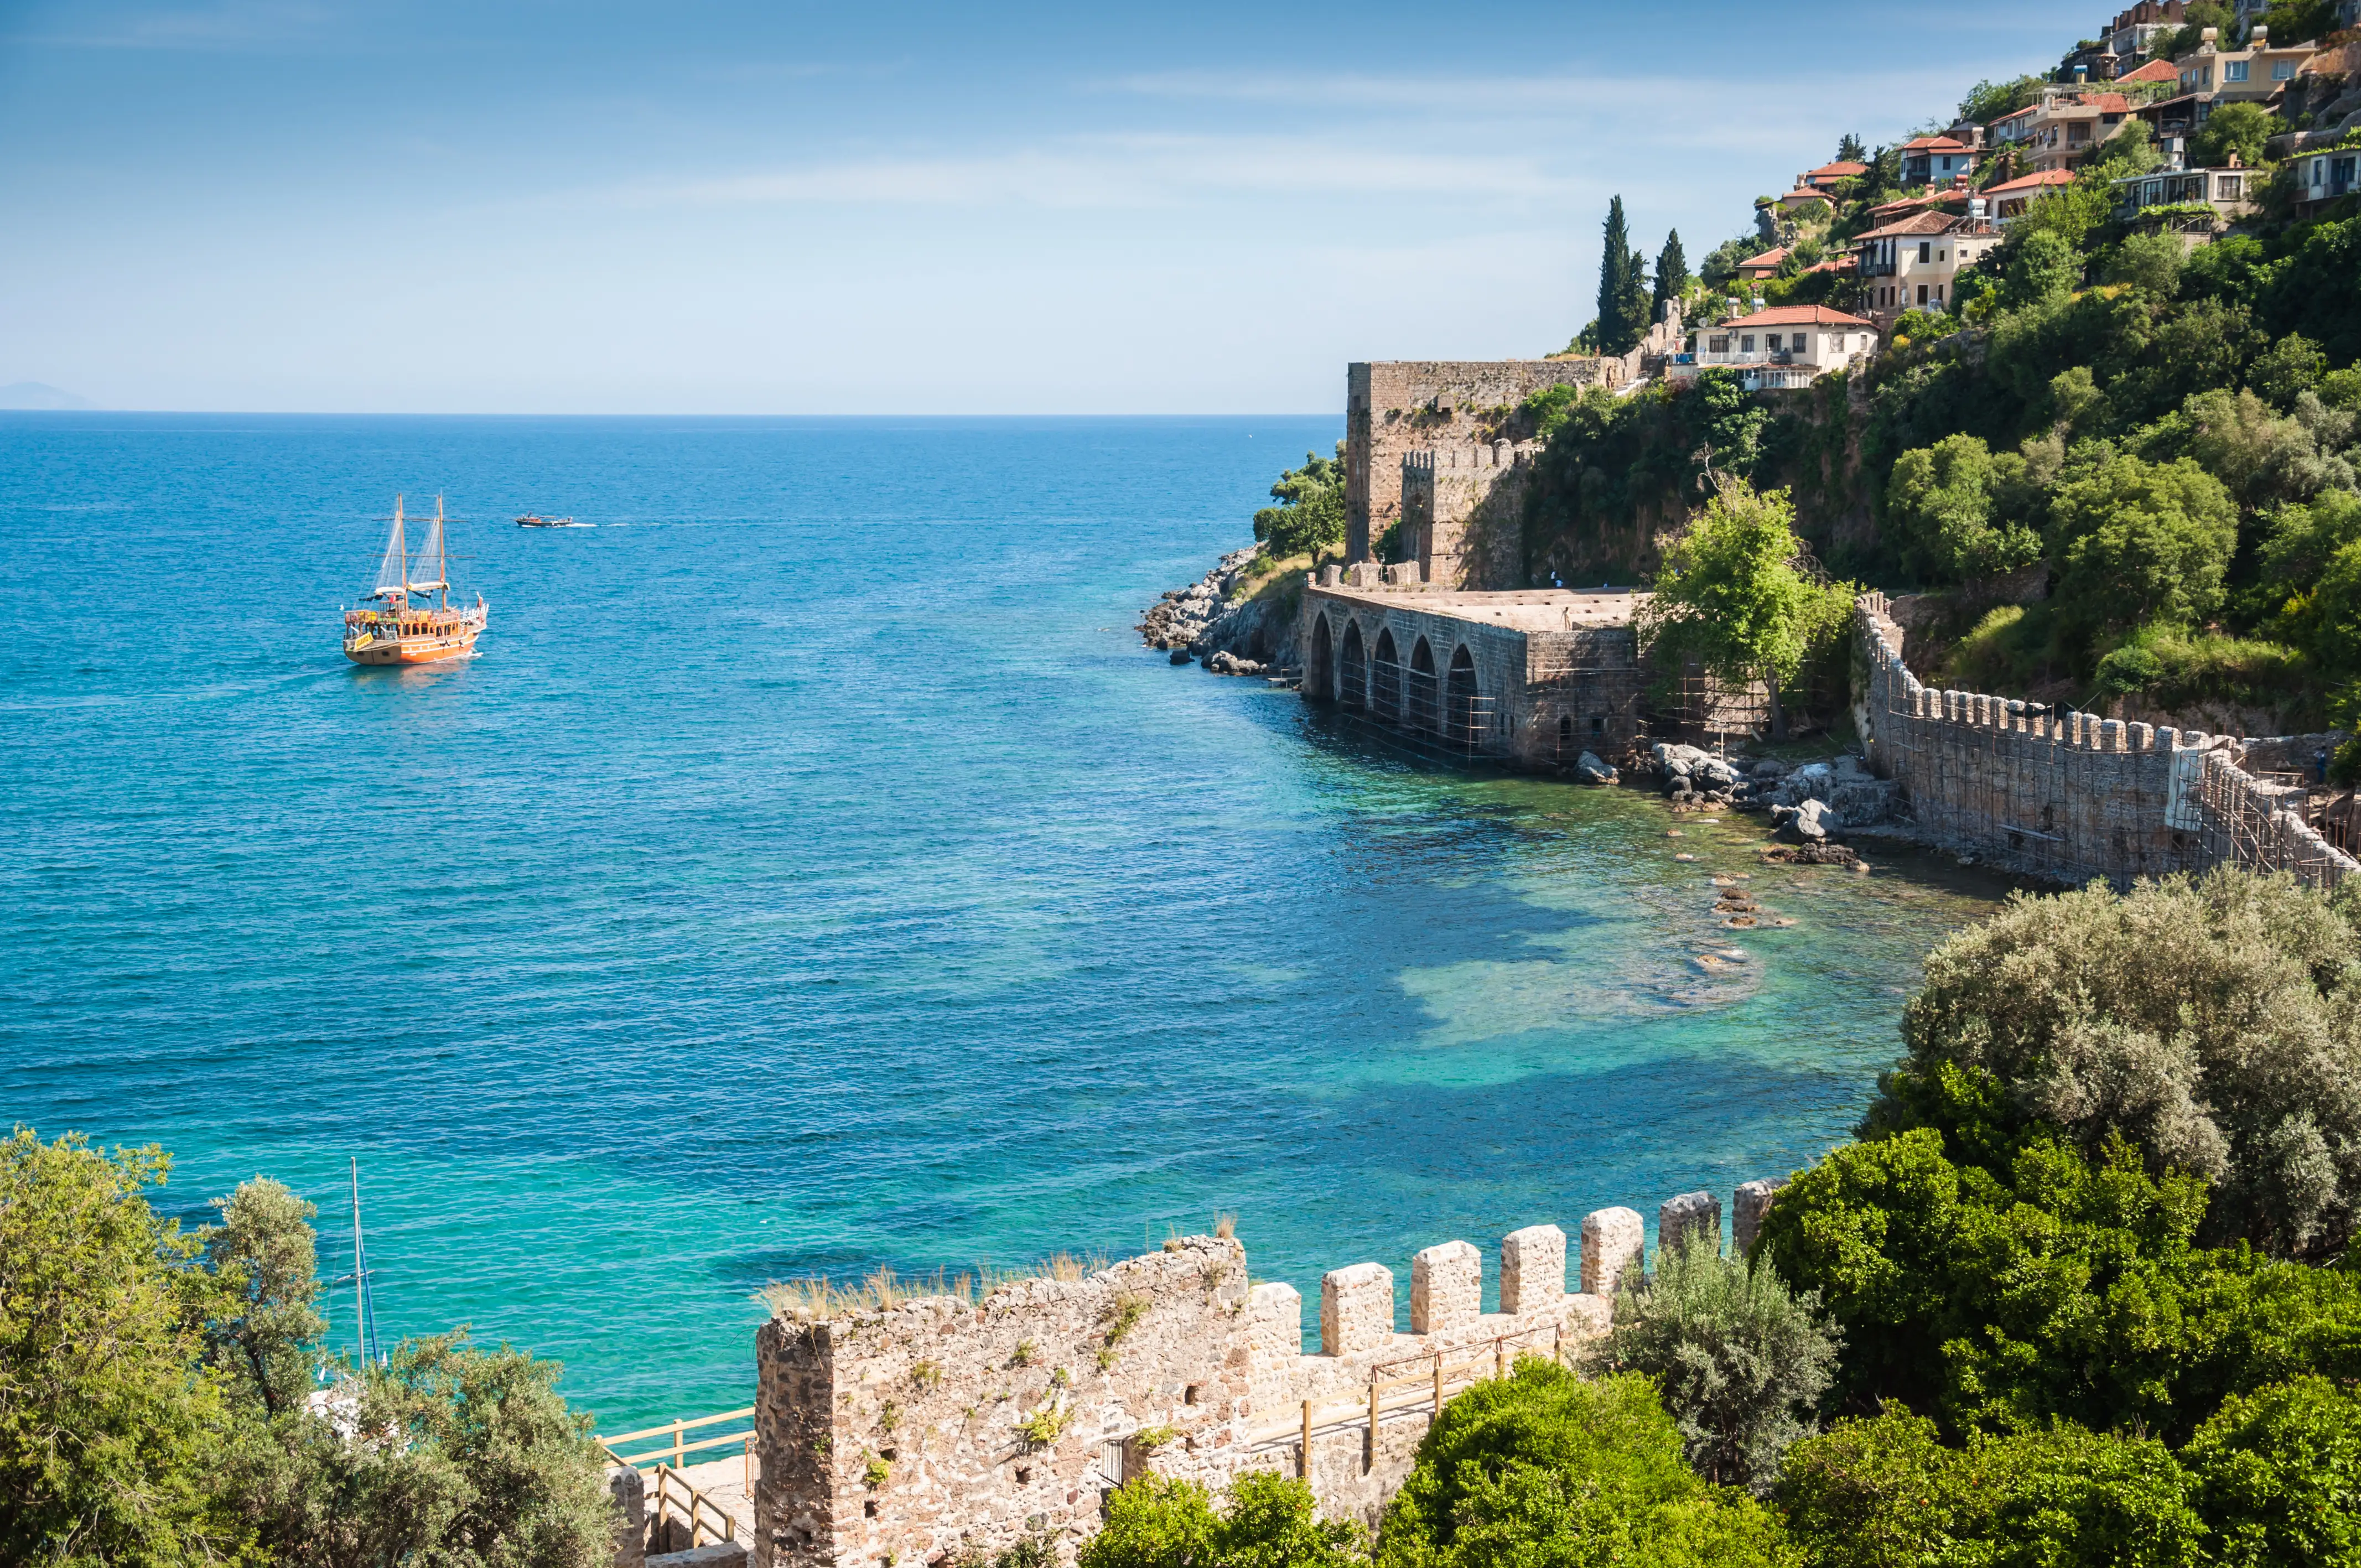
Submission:
M 1539 1358 L 1476 1384 L 1419 1440 L 1386 1507 L 1384 1568 L 1790 1566 L 1778 1516 L 1709 1488 L 1646 1377 L 1584 1381 Z

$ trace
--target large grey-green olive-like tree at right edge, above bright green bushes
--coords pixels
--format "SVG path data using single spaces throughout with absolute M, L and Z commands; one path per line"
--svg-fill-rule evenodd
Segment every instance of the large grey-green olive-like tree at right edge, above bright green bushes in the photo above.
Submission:
M 2361 933 L 2293 878 L 2210 871 L 2009 900 L 1927 959 L 1908 1058 L 1872 1126 L 1974 1145 L 1943 1070 L 1990 1074 L 1974 1115 L 2217 1183 L 2210 1235 L 2340 1249 L 2361 1200 Z M 1794 1275 L 1790 1275 L 1794 1278 Z M 1801 1282 L 1801 1280 L 1799 1280 Z

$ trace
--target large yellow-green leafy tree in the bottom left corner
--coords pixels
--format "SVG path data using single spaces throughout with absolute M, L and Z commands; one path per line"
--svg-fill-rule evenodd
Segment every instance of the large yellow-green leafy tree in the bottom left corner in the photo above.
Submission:
M 231 1412 L 203 1370 L 212 1280 L 149 1209 L 163 1150 L 0 1143 L 0 1561 L 168 1568 L 248 1554 L 215 1490 Z

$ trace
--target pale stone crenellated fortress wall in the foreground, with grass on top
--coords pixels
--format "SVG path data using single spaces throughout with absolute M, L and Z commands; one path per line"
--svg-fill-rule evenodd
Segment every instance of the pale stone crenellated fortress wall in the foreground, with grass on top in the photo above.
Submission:
M 1738 1247 L 1773 1190 L 1733 1195 Z M 1709 1193 L 1657 1209 L 1660 1244 L 1690 1230 L 1719 1244 Z M 1516 1355 L 1572 1360 L 1605 1332 L 1617 1282 L 1646 1261 L 1646 1221 L 1598 1209 L 1577 1247 L 1568 1289 L 1558 1226 L 1502 1237 L 1490 1313 L 1476 1247 L 1419 1252 L 1407 1334 L 1391 1268 L 1336 1268 L 1310 1353 L 1301 1294 L 1249 1285 L 1244 1247 L 1221 1235 L 982 1301 L 772 1318 L 756 1337 L 753 1561 L 940 1568 L 1029 1535 L 1072 1559 L 1105 1495 L 1147 1471 L 1216 1488 L 1247 1471 L 1303 1476 L 1325 1516 L 1374 1525 L 1443 1400 Z

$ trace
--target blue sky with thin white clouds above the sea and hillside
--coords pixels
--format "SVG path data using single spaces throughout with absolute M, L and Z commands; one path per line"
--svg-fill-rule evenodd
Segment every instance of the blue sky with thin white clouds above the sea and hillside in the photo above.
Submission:
M 1334 411 L 1539 354 L 2089 14 L 0 0 L 0 385 L 116 409 Z

